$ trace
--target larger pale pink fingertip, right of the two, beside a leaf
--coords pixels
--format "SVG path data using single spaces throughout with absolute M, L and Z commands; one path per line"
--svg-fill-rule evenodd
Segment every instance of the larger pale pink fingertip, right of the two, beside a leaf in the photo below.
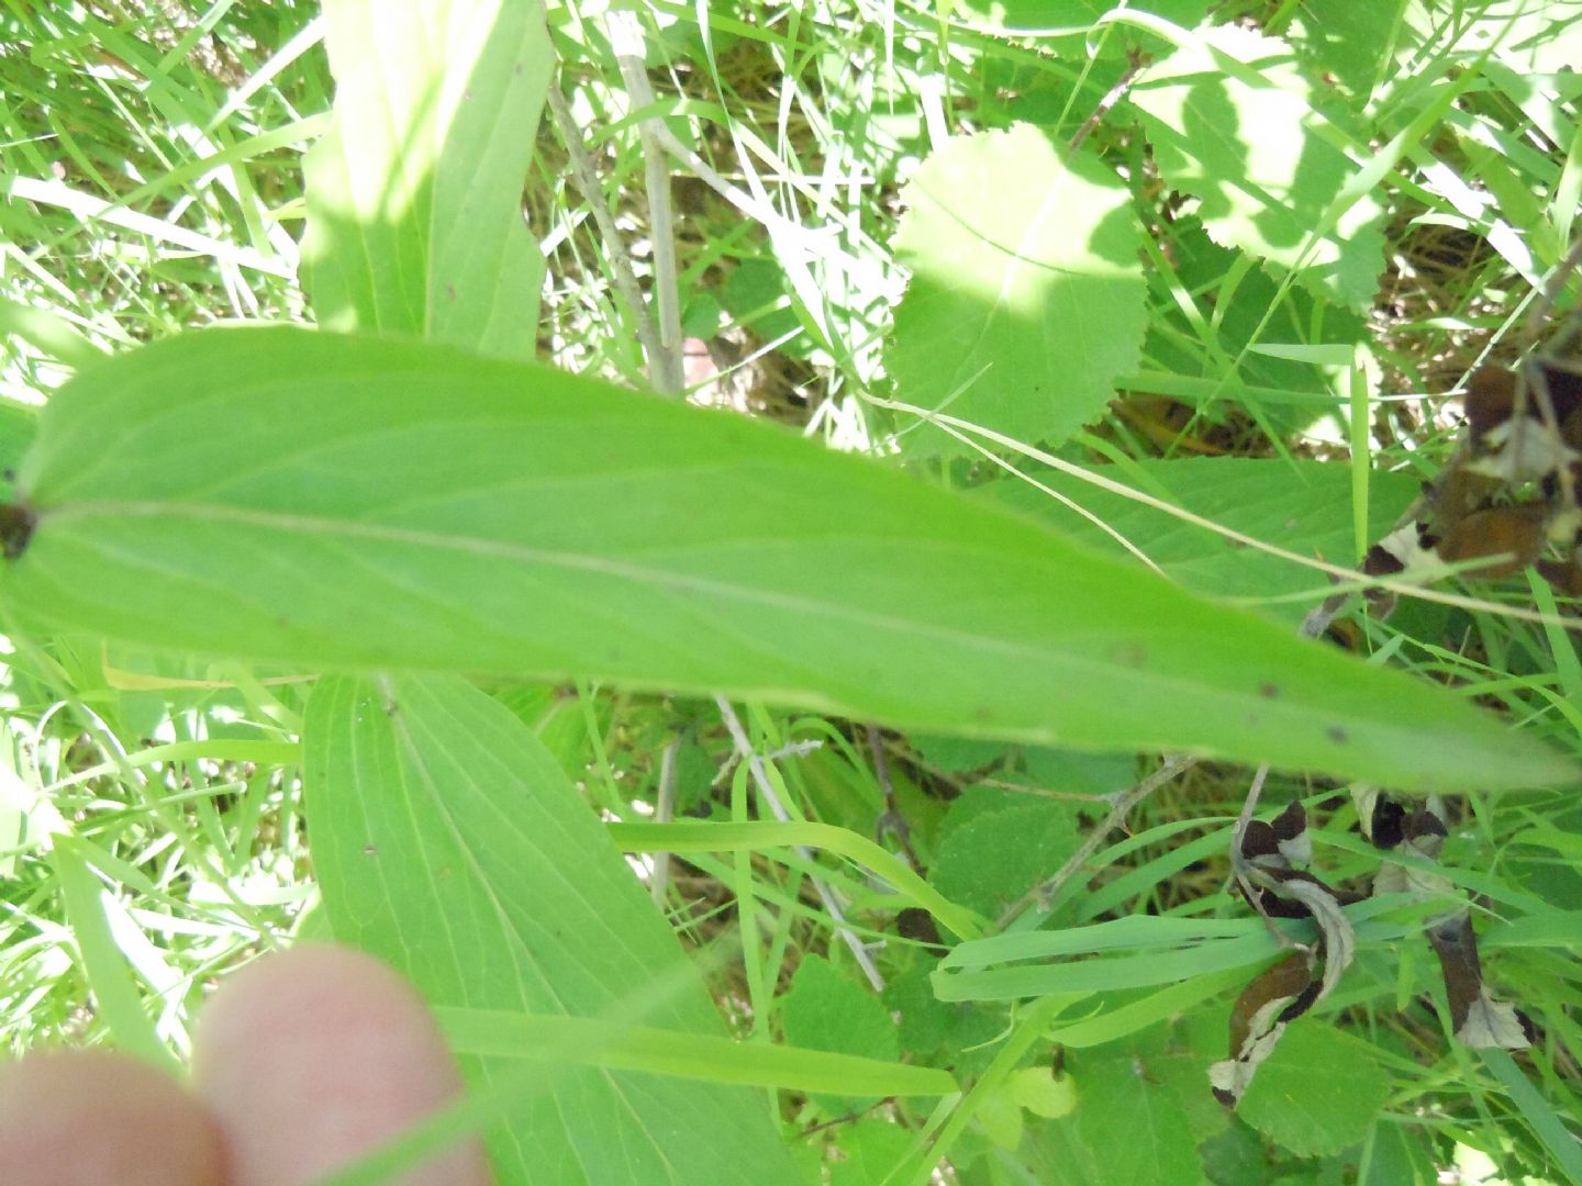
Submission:
M 199 1018 L 193 1055 L 233 1186 L 312 1181 L 462 1093 L 418 991 L 375 957 L 331 944 L 299 944 L 231 977 Z M 470 1140 L 399 1181 L 492 1180 Z

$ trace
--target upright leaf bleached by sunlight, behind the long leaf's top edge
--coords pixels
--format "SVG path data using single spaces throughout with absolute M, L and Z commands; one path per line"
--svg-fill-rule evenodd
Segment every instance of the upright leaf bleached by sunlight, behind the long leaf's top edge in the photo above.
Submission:
M 544 256 L 522 220 L 551 51 L 538 0 L 327 0 L 332 130 L 307 155 L 324 326 L 532 357 Z

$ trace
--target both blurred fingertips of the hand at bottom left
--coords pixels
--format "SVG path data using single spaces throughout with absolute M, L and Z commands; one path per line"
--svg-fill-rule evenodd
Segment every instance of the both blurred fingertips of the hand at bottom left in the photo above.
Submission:
M 462 1091 L 433 1017 L 370 955 L 302 944 L 231 977 L 190 1082 L 112 1050 L 0 1064 L 6 1186 L 305 1186 Z M 396 1180 L 489 1186 L 471 1142 Z

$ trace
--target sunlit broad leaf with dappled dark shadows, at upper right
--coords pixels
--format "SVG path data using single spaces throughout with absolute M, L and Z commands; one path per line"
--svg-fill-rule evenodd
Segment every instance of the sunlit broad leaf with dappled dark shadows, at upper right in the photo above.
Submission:
M 1332 300 L 1373 304 L 1383 209 L 1348 193 L 1361 166 L 1324 127 L 1289 46 L 1247 28 L 1204 30 L 1130 98 L 1160 172 L 1198 198 L 1210 236 L 1297 270 Z

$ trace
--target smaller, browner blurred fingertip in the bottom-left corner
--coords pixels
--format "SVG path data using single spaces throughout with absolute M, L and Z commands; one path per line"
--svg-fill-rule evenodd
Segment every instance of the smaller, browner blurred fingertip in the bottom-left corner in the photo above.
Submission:
M 220 1186 L 214 1120 L 180 1083 L 112 1050 L 0 1066 L 0 1183 Z

